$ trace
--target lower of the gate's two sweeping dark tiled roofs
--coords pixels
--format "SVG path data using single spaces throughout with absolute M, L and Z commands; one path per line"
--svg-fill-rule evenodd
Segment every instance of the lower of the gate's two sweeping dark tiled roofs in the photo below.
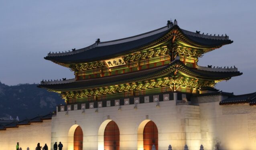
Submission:
M 152 69 L 136 71 L 133 73 L 126 73 L 115 76 L 108 77 L 100 77 L 96 79 L 87 79 L 83 81 L 74 81 L 69 83 L 63 83 L 63 81 L 59 81 L 59 84 L 54 82 L 50 84 L 47 82 L 41 82 L 38 87 L 46 88 L 56 91 L 69 91 L 69 90 L 81 90 L 81 89 L 89 89 L 95 87 L 102 87 L 114 84 L 121 84 L 126 82 L 136 82 L 138 80 L 148 80 L 154 79 L 155 77 L 163 77 L 168 75 L 171 71 L 177 69 L 179 72 L 183 72 L 191 77 L 195 77 L 197 79 L 207 79 L 207 80 L 227 80 L 231 77 L 242 75 L 239 71 L 231 71 L 231 72 L 215 72 L 215 71 L 205 71 L 200 69 L 192 69 L 187 67 L 180 60 L 175 60 L 168 65 L 156 67 Z

